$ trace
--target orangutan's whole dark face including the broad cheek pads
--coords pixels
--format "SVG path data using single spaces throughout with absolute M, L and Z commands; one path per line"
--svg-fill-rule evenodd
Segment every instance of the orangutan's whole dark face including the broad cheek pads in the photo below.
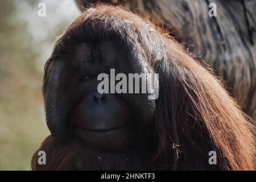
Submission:
M 53 64 L 49 78 L 51 87 L 46 92 L 47 124 L 50 129 L 57 130 L 53 134 L 69 133 L 68 138 L 77 138 L 81 143 L 103 151 L 146 146 L 155 101 L 148 100 L 147 94 L 97 92 L 100 73 L 109 74 L 110 69 L 115 69 L 115 75 L 128 75 L 145 70 L 143 64 L 136 65 L 138 60 L 133 59 L 129 49 L 119 46 L 116 40 L 79 43 L 70 55 L 59 57 Z M 57 114 L 52 114 L 54 111 Z M 55 123 L 49 119 L 52 115 Z M 57 126 L 58 117 L 60 126 Z M 66 126 L 63 126 L 64 121 Z M 62 131 L 61 127 L 64 127 Z

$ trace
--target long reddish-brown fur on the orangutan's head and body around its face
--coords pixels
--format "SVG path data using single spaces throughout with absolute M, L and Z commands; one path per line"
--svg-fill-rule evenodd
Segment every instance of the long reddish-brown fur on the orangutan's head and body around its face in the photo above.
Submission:
M 125 20 L 132 22 L 127 26 Z M 72 41 L 73 34 L 79 35 L 81 24 L 84 27 L 93 24 L 95 29 L 91 31 L 104 25 L 113 28 L 118 35 L 126 36 L 127 42 L 137 48 L 162 79 L 155 111 L 154 132 L 158 146 L 155 151 L 148 151 L 154 154 L 148 162 L 151 166 L 138 167 L 143 166 L 143 162 L 137 165 L 136 159 L 118 166 L 112 165 L 110 160 L 100 167 L 91 165 L 89 169 L 254 169 L 255 142 L 249 118 L 212 71 L 188 56 L 166 32 L 127 10 L 101 5 L 85 11 L 75 20 L 55 49 L 63 46 L 63 42 Z M 126 28 L 130 28 L 129 31 Z M 51 61 L 54 59 L 46 65 L 44 88 Z M 86 151 L 76 138 L 58 143 L 53 135 L 44 140 L 39 150 L 46 151 L 48 163 L 37 164 L 36 152 L 32 169 L 77 169 L 74 162 L 91 155 L 91 151 Z M 216 167 L 208 164 L 211 150 L 217 152 Z M 119 162 L 119 157 L 116 160 Z M 94 164 L 94 161 L 90 159 L 86 163 Z M 161 168 L 161 164 L 167 167 Z

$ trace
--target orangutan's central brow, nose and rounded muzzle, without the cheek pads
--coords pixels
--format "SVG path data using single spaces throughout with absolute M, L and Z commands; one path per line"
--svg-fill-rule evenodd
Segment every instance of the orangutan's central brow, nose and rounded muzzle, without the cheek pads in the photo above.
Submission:
M 82 43 L 76 48 L 75 59 L 82 61 L 83 73 L 79 87 L 85 87 L 82 99 L 72 119 L 72 130 L 87 144 L 103 149 L 121 149 L 131 144 L 134 137 L 133 113 L 117 94 L 97 92 L 100 73 L 119 72 L 118 59 L 113 42 L 95 46 Z

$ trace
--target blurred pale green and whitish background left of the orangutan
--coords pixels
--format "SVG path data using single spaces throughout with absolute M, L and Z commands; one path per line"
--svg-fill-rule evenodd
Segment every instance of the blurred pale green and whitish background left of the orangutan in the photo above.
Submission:
M 46 17 L 38 16 L 41 2 Z M 30 170 L 49 134 L 43 67 L 56 38 L 79 14 L 73 0 L 0 1 L 0 170 Z

